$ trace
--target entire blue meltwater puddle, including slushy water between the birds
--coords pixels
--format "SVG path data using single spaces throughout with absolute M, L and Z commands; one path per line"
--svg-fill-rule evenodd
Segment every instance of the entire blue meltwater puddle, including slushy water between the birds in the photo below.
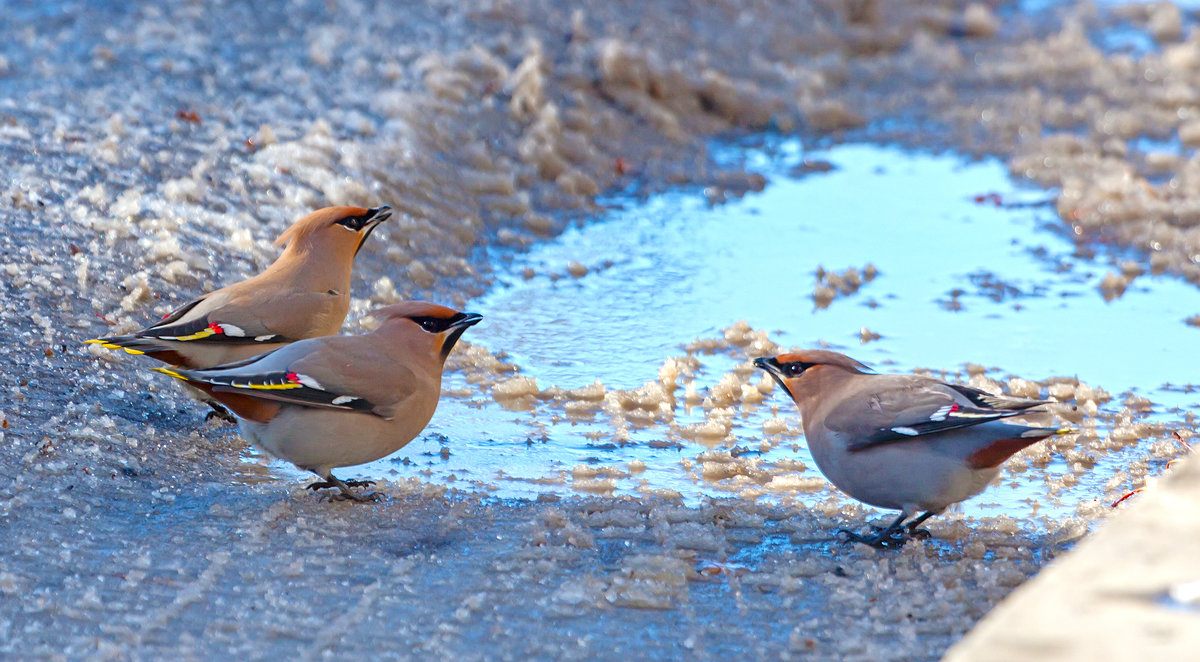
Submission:
M 824 343 L 882 372 L 955 373 L 970 361 L 998 368 L 991 377 L 1000 379 L 1078 377 L 1115 395 L 1140 393 L 1159 411 L 1200 407 L 1195 392 L 1162 389 L 1196 380 L 1190 348 L 1200 329 L 1183 319 L 1200 312 L 1200 291 L 1144 275 L 1105 302 L 1098 283 L 1115 267 L 1103 247 L 1098 258 L 1076 258 L 1078 247 L 1045 204 L 1052 194 L 1013 183 L 1001 163 L 876 145 L 804 151 L 794 140 L 721 146 L 716 157 L 744 163 L 769 183 L 719 205 L 701 191 L 602 200 L 607 213 L 521 255 L 488 295 L 472 302 L 485 323 L 469 341 L 505 353 L 542 389 L 598 379 L 610 390 L 632 389 L 655 380 L 686 343 L 720 337 L 745 320 L 781 345 Z M 796 175 L 802 163 L 832 169 Z M 588 272 L 570 276 L 572 261 Z M 862 271 L 868 264 L 878 270 L 871 282 L 828 308 L 814 305 L 818 267 Z M 533 277 L 524 277 L 527 270 Z M 863 327 L 881 338 L 863 344 Z M 702 387 L 742 360 L 698 357 Z M 446 387 L 469 385 L 451 373 Z M 1118 401 L 1108 407 L 1120 410 Z M 773 411 L 799 427 L 794 407 L 775 391 L 763 405 L 740 410 L 734 443 L 718 447 L 768 468 L 799 459 L 808 465 L 803 475 L 818 476 L 802 437 L 762 446 L 762 423 Z M 676 410 L 679 425 L 703 420 L 698 408 Z M 733 494 L 684 465 L 707 450 L 672 437 L 666 426 L 634 427 L 624 439 L 604 413 L 568 417 L 551 405 L 510 411 L 476 392 L 444 397 L 422 437 L 352 474 L 535 496 L 575 493 L 570 473 L 577 467 L 628 471 L 632 462 L 644 469 L 618 477 L 613 493 L 666 489 L 695 502 Z M 1136 449 L 1110 453 L 1078 485 L 1049 498 L 1044 474 L 1069 473 L 1056 458 L 1045 470 L 1007 475 L 965 512 L 1067 517 L 1081 500 L 1103 498 L 1104 483 L 1136 457 Z M 808 502 L 832 494 L 823 488 L 780 498 Z

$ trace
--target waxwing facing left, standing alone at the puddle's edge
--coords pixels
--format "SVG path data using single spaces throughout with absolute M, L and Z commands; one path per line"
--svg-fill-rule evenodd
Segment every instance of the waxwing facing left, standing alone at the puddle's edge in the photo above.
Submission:
M 914 374 L 874 374 L 835 351 L 797 351 L 754 363 L 796 401 L 817 469 L 854 499 L 900 511 L 875 536 L 840 531 L 874 547 L 928 536 L 918 529 L 923 522 L 983 492 L 1013 453 L 1072 432 L 1001 422 L 1044 401 Z

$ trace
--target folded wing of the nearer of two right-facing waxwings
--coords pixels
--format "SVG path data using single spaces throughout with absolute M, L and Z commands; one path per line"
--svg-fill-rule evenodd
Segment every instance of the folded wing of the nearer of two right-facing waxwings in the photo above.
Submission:
M 415 390 L 410 369 L 365 351 L 361 336 L 311 338 L 246 361 L 202 369 L 154 368 L 222 395 L 295 407 L 362 411 L 391 419 Z M 236 409 L 235 409 L 236 411 Z

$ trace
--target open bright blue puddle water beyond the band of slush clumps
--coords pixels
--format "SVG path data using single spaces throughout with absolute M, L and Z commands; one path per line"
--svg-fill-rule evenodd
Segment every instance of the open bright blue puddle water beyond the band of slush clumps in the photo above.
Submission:
M 776 152 L 785 163 L 800 158 L 798 146 Z M 1200 311 L 1200 293 L 1142 276 L 1105 302 L 1097 285 L 1111 267 L 1074 259 L 1051 207 L 988 197 L 1050 199 L 1015 187 L 1000 163 L 871 145 L 804 156 L 835 170 L 773 177 L 763 193 L 714 207 L 701 195 L 664 195 L 568 231 L 514 269 L 612 266 L 578 279 L 510 281 L 476 305 L 487 324 L 473 338 L 564 387 L 598 378 L 638 386 L 683 343 L 740 319 L 779 330 L 780 344 L 827 342 L 889 369 L 970 360 L 1028 379 L 1078 375 L 1140 391 L 1195 379 L 1178 353 L 1200 339 L 1183 324 Z M 767 170 L 768 158 L 746 166 Z M 817 267 L 866 264 L 878 269 L 875 281 L 814 309 Z M 948 308 L 954 299 L 961 309 Z M 883 338 L 860 345 L 864 326 Z M 1148 341 L 1135 361 L 1130 338 Z

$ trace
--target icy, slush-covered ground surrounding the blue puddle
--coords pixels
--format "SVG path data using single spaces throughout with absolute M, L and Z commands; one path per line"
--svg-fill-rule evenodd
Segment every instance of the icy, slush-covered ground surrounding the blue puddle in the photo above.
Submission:
M 1200 283 L 1186 11 L 559 5 L 5 6 L 0 651 L 925 660 L 1082 532 L 950 518 L 877 554 L 830 543 L 863 516 L 835 499 L 402 480 L 378 505 L 318 502 L 144 366 L 79 348 L 260 269 L 323 204 L 401 211 L 361 255 L 352 329 L 396 297 L 466 305 L 601 191 L 761 187 L 706 140 L 766 130 L 995 155 L 1056 191 L 1081 249 Z M 1159 468 L 1192 434 L 1174 416 L 1126 428 Z

